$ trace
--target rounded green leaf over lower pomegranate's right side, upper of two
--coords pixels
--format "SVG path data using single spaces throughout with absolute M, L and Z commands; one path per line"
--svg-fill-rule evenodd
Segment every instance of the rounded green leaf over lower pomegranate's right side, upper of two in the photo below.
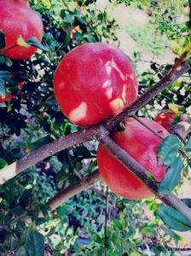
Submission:
M 177 158 L 177 151 L 180 147 L 181 142 L 177 139 L 177 136 L 170 135 L 159 145 L 157 156 L 163 159 L 165 166 L 168 166 Z

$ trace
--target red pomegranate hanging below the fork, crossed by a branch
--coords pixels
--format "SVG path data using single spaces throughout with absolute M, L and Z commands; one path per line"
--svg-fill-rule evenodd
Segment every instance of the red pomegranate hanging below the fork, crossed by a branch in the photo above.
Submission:
M 159 123 L 144 117 L 140 119 L 160 135 L 164 137 L 169 135 Z M 113 140 L 148 170 L 157 182 L 161 182 L 167 169 L 157 165 L 156 152 L 161 139 L 133 118 L 128 118 L 124 126 L 124 132 L 113 132 Z M 101 144 L 97 151 L 97 164 L 103 180 L 113 193 L 127 199 L 144 199 L 153 196 L 153 193 L 131 174 L 130 170 L 113 158 Z

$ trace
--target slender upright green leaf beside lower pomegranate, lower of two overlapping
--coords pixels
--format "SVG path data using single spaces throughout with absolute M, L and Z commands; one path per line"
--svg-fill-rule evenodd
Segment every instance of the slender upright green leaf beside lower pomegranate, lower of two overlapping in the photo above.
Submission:
M 165 177 L 159 184 L 159 193 L 169 194 L 181 180 L 182 157 L 179 156 L 166 170 Z

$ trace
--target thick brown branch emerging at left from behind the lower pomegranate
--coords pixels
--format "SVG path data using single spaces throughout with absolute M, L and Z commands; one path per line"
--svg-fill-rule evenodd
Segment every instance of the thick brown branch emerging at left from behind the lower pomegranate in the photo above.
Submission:
M 82 192 L 84 189 L 90 188 L 95 182 L 100 179 L 99 170 L 95 170 L 88 176 L 84 176 L 82 180 L 73 184 L 69 188 L 62 189 L 59 193 L 49 200 L 47 205 L 51 207 L 51 211 L 54 211 L 59 205 L 72 198 L 75 194 Z

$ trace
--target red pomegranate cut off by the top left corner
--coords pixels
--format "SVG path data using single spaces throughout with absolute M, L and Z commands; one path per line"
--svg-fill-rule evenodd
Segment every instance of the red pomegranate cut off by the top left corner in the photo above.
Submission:
M 0 0 L 0 30 L 5 34 L 5 48 L 16 45 L 18 37 L 28 40 L 36 37 L 39 41 L 43 38 L 43 22 L 38 14 L 31 9 L 26 0 Z M 26 48 L 15 46 L 4 53 L 6 57 L 22 60 L 32 56 L 37 51 L 36 47 Z

